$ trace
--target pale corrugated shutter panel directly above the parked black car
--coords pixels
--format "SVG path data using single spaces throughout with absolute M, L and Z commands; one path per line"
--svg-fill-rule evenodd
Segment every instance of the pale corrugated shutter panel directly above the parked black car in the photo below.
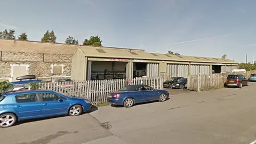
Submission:
M 166 74 L 168 77 L 187 77 L 188 65 L 167 64 Z

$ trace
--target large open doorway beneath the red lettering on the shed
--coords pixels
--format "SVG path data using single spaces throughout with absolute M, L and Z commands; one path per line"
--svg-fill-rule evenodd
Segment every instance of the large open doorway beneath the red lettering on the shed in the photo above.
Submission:
M 87 67 L 87 79 L 101 80 L 126 78 L 126 64 L 127 62 L 90 61 Z

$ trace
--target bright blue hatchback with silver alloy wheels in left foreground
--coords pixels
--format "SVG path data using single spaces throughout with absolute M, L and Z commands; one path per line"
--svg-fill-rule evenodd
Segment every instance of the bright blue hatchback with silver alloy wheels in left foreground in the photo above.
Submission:
M 0 127 L 15 122 L 57 115 L 78 116 L 91 109 L 87 99 L 71 98 L 54 91 L 21 91 L 0 95 Z

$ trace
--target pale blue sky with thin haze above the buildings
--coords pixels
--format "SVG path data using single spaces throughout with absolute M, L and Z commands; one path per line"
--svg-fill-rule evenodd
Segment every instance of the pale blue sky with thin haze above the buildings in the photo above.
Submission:
M 104 46 L 243 62 L 245 54 L 256 59 L 255 7 L 253 0 L 2 0 L 0 30 L 31 41 L 54 30 L 59 43 L 99 35 Z

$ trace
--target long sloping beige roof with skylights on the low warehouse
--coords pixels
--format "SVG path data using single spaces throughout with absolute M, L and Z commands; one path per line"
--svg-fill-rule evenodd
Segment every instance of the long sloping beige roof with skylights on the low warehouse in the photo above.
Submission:
M 169 55 L 162 53 L 147 53 L 147 52 L 130 52 L 119 51 L 107 48 L 101 48 L 106 53 L 98 52 L 94 48 L 78 48 L 87 57 L 102 57 L 102 58 L 123 58 L 123 59 L 143 59 L 143 60 L 165 60 L 165 61 L 190 61 L 190 62 L 211 62 L 211 63 L 237 63 L 229 59 L 192 57 L 185 55 Z

